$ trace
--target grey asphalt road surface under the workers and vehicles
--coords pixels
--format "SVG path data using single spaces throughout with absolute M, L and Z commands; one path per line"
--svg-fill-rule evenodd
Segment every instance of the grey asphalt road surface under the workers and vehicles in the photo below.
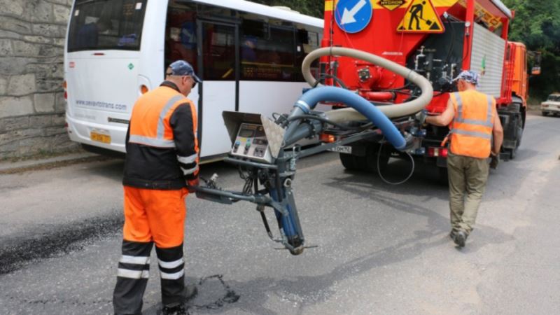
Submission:
M 449 239 L 447 188 L 433 167 L 388 186 L 346 172 L 335 153 L 301 160 L 295 197 L 307 244 L 318 247 L 299 256 L 276 249 L 252 204 L 190 195 L 186 274 L 199 295 L 189 312 L 558 314 L 559 159 L 560 118 L 529 116 L 517 159 L 491 172 L 462 249 Z M 409 167 L 391 165 L 392 179 Z M 112 314 L 122 169 L 109 160 L 0 175 L 1 314 Z M 202 167 L 214 172 L 223 188 L 241 189 L 235 169 Z M 151 261 L 144 314 L 159 314 Z

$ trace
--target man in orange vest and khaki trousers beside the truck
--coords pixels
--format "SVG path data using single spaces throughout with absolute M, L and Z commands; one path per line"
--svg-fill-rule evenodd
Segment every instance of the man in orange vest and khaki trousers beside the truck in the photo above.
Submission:
M 418 120 L 436 126 L 449 125 L 450 153 L 447 157 L 451 233 L 459 247 L 472 232 L 489 173 L 489 156 L 497 156 L 503 128 L 496 100 L 476 90 L 479 76 L 462 71 L 454 80 L 459 92 L 451 93 L 447 108 L 439 116 L 419 113 Z

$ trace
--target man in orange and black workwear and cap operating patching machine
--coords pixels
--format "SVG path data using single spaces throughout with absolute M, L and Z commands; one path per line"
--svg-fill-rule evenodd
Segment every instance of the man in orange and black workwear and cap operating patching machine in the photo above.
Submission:
M 185 197 L 198 185 L 197 114 L 186 96 L 201 83 L 193 66 L 173 62 L 165 81 L 142 95 L 126 138 L 123 255 L 113 293 L 115 314 L 140 314 L 153 244 L 160 269 L 163 314 L 186 314 L 196 294 L 185 285 Z

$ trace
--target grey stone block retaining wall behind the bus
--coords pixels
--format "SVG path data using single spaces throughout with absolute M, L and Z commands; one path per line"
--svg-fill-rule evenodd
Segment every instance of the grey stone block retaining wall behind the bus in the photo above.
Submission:
M 71 151 L 63 52 L 72 0 L 0 0 L 0 159 Z

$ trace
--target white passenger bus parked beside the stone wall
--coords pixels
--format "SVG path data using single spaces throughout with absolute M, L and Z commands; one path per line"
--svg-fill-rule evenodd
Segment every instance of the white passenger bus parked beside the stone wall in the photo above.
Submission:
M 231 148 L 222 111 L 289 111 L 322 29 L 323 20 L 241 0 L 75 0 L 64 50 L 69 137 L 125 153 L 134 102 L 185 59 L 203 80 L 189 95 L 201 158 L 221 158 Z

